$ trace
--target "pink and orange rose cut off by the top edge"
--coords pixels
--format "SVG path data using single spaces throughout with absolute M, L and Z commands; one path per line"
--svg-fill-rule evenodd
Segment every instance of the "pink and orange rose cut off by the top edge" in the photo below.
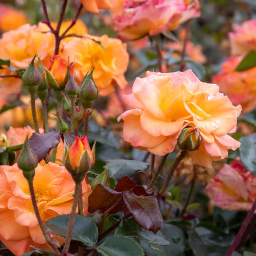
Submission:
M 173 30 L 188 19 L 200 16 L 199 1 L 125 1 L 122 13 L 114 17 L 114 29 L 122 40 L 137 39 Z

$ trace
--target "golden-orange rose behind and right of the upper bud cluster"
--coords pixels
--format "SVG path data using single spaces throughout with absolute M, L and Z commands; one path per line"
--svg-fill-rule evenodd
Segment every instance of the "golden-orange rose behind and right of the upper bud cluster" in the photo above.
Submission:
M 124 73 L 129 62 L 126 44 L 107 35 L 88 37 L 71 39 L 60 53 L 66 61 L 68 58 L 75 60 L 77 83 L 80 84 L 86 73 L 94 68 L 93 79 L 100 96 L 112 94 L 116 83 L 124 88 L 127 84 Z M 104 48 L 92 39 L 100 41 Z

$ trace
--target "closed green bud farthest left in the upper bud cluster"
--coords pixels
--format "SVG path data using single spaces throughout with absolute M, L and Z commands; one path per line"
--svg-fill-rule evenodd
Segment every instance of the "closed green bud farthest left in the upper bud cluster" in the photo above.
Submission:
M 41 75 L 38 71 L 38 69 L 35 67 L 35 57 L 31 60 L 31 63 L 28 65 L 28 68 L 24 72 L 22 76 L 22 81 L 24 85 L 27 86 L 27 90 L 30 93 L 35 93 L 38 89 L 38 85 L 41 80 Z

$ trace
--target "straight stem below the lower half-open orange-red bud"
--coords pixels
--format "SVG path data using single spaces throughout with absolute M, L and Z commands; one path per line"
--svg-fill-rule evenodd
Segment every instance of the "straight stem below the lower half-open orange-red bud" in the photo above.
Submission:
M 81 183 L 79 183 L 79 184 L 76 183 L 73 205 L 72 205 L 71 213 L 69 215 L 67 238 L 66 238 L 66 242 L 64 245 L 64 249 L 63 249 L 64 255 L 68 254 L 69 245 L 70 245 L 71 238 L 72 238 L 72 231 L 73 231 L 73 225 L 74 225 L 75 216 L 76 216 L 76 206 L 77 206 L 77 200 L 78 200 L 80 187 L 81 187 Z

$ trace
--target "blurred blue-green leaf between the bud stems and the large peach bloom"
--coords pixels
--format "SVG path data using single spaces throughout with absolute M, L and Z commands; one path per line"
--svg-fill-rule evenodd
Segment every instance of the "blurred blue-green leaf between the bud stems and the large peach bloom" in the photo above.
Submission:
M 112 147 L 118 147 L 119 143 L 115 138 L 113 131 L 102 126 L 98 126 L 95 123 L 89 122 L 88 141 L 106 144 Z

